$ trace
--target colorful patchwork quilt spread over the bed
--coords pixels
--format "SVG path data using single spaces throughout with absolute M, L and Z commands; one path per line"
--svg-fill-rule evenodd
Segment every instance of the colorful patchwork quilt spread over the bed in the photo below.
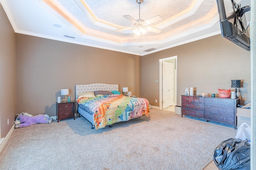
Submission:
M 80 98 L 77 100 L 90 109 L 93 114 L 95 129 L 120 121 L 128 121 L 142 115 L 148 115 L 149 102 L 144 98 L 111 94 L 106 96 Z

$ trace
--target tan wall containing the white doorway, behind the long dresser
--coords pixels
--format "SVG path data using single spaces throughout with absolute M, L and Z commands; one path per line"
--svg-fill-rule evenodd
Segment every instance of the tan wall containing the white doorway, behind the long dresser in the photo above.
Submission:
M 230 89 L 231 80 L 242 80 L 240 104 L 250 103 L 250 52 L 221 35 L 215 35 L 156 53 L 142 56 L 142 96 L 159 106 L 159 59 L 177 56 L 177 105 L 186 88 L 197 94 L 218 94 L 218 88 Z M 231 89 L 233 90 L 233 88 Z

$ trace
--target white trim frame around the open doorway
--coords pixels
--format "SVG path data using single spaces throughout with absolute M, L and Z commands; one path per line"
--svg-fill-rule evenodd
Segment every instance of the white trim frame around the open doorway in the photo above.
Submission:
M 175 59 L 175 78 L 174 78 L 174 105 L 177 103 L 177 56 L 159 59 L 159 108 L 162 110 L 162 61 Z

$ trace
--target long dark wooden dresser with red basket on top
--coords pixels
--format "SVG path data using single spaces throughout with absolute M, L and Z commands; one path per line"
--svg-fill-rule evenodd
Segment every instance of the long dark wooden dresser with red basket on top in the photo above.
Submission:
M 182 96 L 182 117 L 184 115 L 214 121 L 236 127 L 236 107 L 238 99 L 212 98 L 202 96 Z

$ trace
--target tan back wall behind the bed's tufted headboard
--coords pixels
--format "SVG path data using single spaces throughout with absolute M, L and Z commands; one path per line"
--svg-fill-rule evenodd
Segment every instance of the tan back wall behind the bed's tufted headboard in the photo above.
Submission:
M 56 115 L 60 89 L 108 83 L 141 95 L 141 56 L 16 34 L 16 112 Z

